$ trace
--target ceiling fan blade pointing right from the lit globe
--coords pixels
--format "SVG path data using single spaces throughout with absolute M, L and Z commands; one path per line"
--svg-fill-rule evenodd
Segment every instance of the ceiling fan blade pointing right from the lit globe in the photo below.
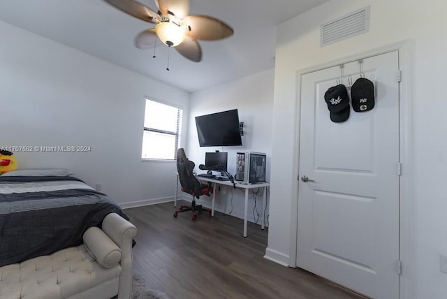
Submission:
M 186 31 L 186 35 L 195 40 L 215 41 L 234 34 L 233 28 L 207 15 L 188 15 L 184 17 L 182 24 L 191 28 L 191 31 Z

